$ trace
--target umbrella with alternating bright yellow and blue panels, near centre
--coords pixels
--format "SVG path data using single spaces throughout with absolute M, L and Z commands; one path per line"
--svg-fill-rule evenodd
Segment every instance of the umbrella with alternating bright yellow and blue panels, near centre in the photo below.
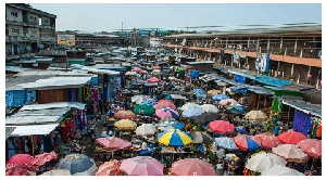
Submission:
M 158 141 L 168 146 L 185 146 L 192 142 L 191 137 L 180 130 L 170 130 L 159 133 Z

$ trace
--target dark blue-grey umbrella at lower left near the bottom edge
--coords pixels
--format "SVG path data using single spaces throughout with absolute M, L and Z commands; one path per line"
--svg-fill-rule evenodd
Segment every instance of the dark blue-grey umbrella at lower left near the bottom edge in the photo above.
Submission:
M 93 175 L 97 170 L 93 159 L 85 154 L 67 154 L 55 165 L 57 169 L 67 169 L 72 175 Z

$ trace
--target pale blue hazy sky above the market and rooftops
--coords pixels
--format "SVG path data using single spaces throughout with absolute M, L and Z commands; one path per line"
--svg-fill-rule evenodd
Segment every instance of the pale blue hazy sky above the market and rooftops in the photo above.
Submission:
M 57 15 L 57 30 L 322 23 L 322 4 L 72 4 L 30 3 Z M 186 29 L 186 28 L 184 28 Z M 212 29 L 212 28 L 211 28 Z M 218 28 L 213 28 L 217 30 Z M 221 29 L 221 28 L 220 28 Z M 190 30 L 190 29 L 189 29 Z M 198 30 L 198 29 L 197 29 Z

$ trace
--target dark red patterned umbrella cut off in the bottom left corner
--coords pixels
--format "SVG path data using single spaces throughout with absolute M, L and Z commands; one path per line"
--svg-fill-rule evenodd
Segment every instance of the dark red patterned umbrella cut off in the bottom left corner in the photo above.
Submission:
M 29 165 L 5 165 L 5 176 L 33 176 L 35 175 L 36 168 Z

